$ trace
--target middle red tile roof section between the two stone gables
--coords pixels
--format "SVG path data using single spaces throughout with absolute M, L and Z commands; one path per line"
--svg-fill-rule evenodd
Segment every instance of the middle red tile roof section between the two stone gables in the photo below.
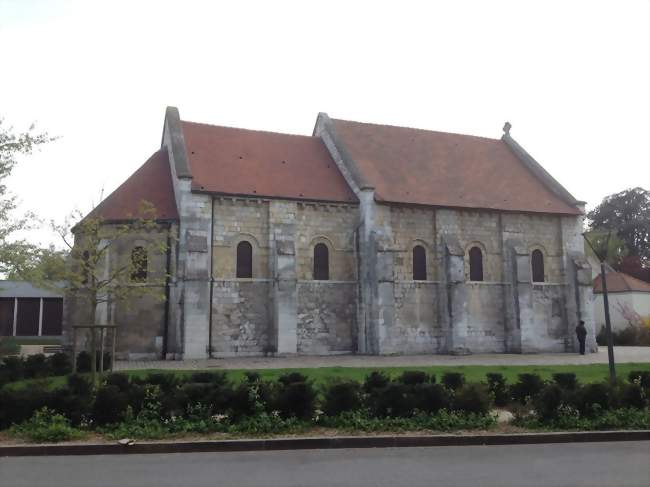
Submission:
M 182 122 L 192 189 L 356 202 L 318 137 Z

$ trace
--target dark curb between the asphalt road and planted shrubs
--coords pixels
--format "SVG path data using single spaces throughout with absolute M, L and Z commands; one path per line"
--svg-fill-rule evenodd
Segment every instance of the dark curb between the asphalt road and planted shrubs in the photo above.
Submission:
M 538 445 L 599 441 L 648 441 L 650 430 L 518 433 L 498 435 L 335 436 L 214 440 L 193 442 L 90 443 L 75 445 L 0 446 L 0 457 L 56 455 L 121 455 L 150 453 L 247 452 L 273 450 L 328 450 L 337 448 L 403 448 L 425 446 Z

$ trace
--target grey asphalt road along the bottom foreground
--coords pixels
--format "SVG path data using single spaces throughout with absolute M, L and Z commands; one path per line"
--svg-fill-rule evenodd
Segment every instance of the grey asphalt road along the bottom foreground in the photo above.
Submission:
M 0 458 L 2 487 L 650 485 L 650 442 Z

